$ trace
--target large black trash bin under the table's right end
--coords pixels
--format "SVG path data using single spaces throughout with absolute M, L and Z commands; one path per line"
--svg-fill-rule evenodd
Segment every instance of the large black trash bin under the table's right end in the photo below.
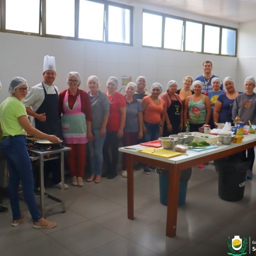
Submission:
M 218 195 L 225 201 L 239 201 L 244 197 L 249 161 L 237 155 L 214 161 L 218 173 Z

